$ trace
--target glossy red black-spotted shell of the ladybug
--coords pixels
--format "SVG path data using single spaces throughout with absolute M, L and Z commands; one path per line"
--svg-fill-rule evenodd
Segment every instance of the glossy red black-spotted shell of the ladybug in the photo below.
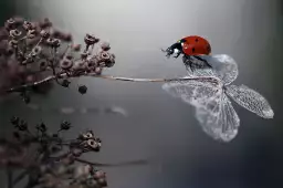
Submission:
M 209 42 L 201 36 L 190 35 L 182 40 L 186 40 L 182 45 L 182 52 L 186 55 L 209 55 L 211 53 Z

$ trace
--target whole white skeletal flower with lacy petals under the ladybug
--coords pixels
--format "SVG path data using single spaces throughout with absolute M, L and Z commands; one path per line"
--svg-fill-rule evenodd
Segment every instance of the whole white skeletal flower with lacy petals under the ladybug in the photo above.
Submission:
M 263 118 L 273 118 L 273 109 L 261 94 L 245 85 L 231 84 L 238 76 L 238 65 L 231 56 L 220 54 L 206 59 L 213 67 L 193 72 L 187 67 L 189 77 L 212 76 L 218 82 L 177 81 L 165 83 L 163 88 L 196 107 L 196 117 L 208 135 L 222 142 L 237 136 L 240 118 L 229 97 Z

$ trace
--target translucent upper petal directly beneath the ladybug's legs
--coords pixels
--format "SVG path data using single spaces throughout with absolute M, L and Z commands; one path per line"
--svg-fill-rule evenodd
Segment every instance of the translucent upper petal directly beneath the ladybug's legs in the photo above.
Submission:
M 207 62 L 212 66 L 209 67 L 200 67 L 201 63 L 199 60 L 193 59 L 192 67 L 195 69 L 191 72 L 189 66 L 186 66 L 188 74 L 193 76 L 217 76 L 223 81 L 224 85 L 229 85 L 238 77 L 238 64 L 237 62 L 227 54 L 217 54 L 217 55 L 202 55 L 202 59 L 207 60 Z M 186 64 L 186 59 L 182 59 Z

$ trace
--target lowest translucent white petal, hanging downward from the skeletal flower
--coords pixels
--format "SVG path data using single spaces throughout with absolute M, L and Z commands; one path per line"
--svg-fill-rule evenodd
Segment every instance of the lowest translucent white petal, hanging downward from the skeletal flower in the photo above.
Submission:
M 240 118 L 226 94 L 216 98 L 218 102 L 212 106 L 196 108 L 196 117 L 203 132 L 214 139 L 222 142 L 232 140 L 240 126 Z

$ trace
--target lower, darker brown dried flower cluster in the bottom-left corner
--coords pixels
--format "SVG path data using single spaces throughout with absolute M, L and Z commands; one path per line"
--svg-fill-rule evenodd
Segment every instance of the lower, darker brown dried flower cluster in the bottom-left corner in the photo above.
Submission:
M 105 173 L 96 169 L 95 163 L 80 159 L 85 153 L 97 153 L 101 149 L 102 140 L 92 130 L 65 140 L 62 134 L 71 128 L 69 122 L 62 122 L 55 133 L 51 133 L 43 123 L 31 127 L 19 117 L 13 117 L 11 124 L 15 128 L 12 139 L 0 142 L 0 166 L 24 169 L 21 178 L 29 178 L 27 187 L 107 186 Z M 12 180 L 10 186 L 14 186 L 21 178 Z

